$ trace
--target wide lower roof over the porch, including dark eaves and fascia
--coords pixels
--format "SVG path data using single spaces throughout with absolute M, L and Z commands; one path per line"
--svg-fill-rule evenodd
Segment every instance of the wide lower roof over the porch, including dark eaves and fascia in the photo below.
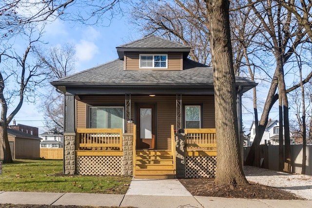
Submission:
M 120 59 L 51 82 L 63 92 L 85 94 L 214 94 L 213 68 L 188 58 L 180 71 L 124 70 Z M 257 84 L 236 76 L 244 93 Z

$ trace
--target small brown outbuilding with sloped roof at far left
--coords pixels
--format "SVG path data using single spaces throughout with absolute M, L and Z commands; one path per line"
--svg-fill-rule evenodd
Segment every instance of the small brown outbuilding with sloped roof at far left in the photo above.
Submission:
M 26 132 L 8 129 L 8 139 L 12 159 L 39 159 L 40 138 Z M 3 159 L 2 145 L 0 144 L 0 159 Z

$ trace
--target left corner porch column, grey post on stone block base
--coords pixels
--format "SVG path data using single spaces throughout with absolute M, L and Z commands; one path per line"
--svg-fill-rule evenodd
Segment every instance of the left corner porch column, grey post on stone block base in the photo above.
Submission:
M 64 166 L 65 174 L 76 173 L 76 133 L 75 133 L 75 97 L 66 94 L 66 113 L 65 113 L 65 130 L 64 130 Z

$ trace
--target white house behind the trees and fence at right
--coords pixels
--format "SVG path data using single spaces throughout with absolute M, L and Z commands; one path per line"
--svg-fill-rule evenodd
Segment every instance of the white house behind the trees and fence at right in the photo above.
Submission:
M 284 130 L 283 130 L 284 132 Z M 248 137 L 248 147 L 251 147 L 254 142 L 255 137 L 255 125 L 254 121 L 250 127 L 250 137 Z M 269 119 L 268 124 L 263 133 L 260 145 L 269 144 L 269 145 L 279 145 L 279 122 L 278 120 Z M 285 138 L 283 134 L 283 139 L 285 144 Z M 293 139 L 291 138 L 291 144 L 293 143 Z

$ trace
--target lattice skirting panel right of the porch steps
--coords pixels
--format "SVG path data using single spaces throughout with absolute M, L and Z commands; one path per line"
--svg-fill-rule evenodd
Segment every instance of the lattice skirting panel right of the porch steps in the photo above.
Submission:
M 186 156 L 186 178 L 215 178 L 216 156 Z

